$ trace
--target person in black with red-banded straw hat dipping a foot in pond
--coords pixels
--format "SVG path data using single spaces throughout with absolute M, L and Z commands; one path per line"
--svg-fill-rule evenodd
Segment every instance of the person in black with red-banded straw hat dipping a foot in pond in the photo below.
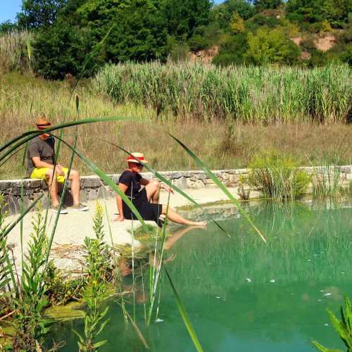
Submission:
M 143 168 L 142 163 L 148 163 L 146 158 L 144 158 L 144 154 L 132 153 L 132 156 L 128 156 L 126 161 L 128 163 L 128 168 L 122 172 L 120 180 L 118 181 L 118 186 L 121 191 L 123 191 L 132 201 L 143 220 L 155 221 L 159 226 L 161 226 L 162 221 L 160 220 L 160 215 L 163 214 L 167 215 L 168 219 L 172 222 L 176 222 L 180 225 L 206 226 L 205 221 L 194 222 L 184 219 L 182 216 L 177 214 L 175 210 L 158 203 L 159 191 L 161 188 L 165 189 L 165 191 L 171 191 L 172 193 L 173 191 L 170 187 L 161 185 L 158 181 L 149 181 L 140 175 Z M 115 219 L 115 221 L 137 219 L 132 213 L 132 210 L 130 210 L 127 204 L 122 201 L 122 198 L 119 195 L 116 196 L 116 201 L 118 204 L 119 216 Z

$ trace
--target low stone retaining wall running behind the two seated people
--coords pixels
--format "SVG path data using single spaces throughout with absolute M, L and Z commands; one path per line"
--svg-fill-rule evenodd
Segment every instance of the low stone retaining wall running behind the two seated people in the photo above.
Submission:
M 323 167 L 318 168 L 302 168 L 306 172 L 312 174 L 314 169 L 320 175 L 326 174 Z M 341 182 L 347 183 L 352 181 L 352 165 L 341 166 Z M 239 184 L 239 177 L 246 175 L 249 169 L 237 170 L 215 170 L 215 175 L 227 187 L 236 187 Z M 166 179 L 181 189 L 187 188 L 210 188 L 215 187 L 213 180 L 210 180 L 203 171 L 171 171 L 160 172 Z M 143 172 L 143 177 L 151 180 L 151 172 Z M 120 175 L 110 175 L 114 182 L 118 182 Z M 0 192 L 4 194 L 6 203 L 8 203 L 9 213 L 18 213 L 20 208 L 20 194 L 21 185 L 23 182 L 23 202 L 24 208 L 36 199 L 37 196 L 46 191 L 46 184 L 42 180 L 0 180 Z M 101 182 L 97 176 L 83 176 L 81 177 L 81 192 L 80 197 L 82 201 L 93 201 L 99 198 L 109 198 L 113 196 L 113 191 Z M 71 203 L 70 194 L 67 195 L 65 203 Z

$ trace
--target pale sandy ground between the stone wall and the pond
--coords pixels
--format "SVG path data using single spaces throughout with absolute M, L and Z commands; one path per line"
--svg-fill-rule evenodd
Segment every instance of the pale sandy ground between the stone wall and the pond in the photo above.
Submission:
M 229 191 L 238 199 L 236 188 L 229 188 Z M 200 204 L 210 203 L 214 201 L 227 200 L 227 196 L 217 188 L 210 189 L 187 189 L 185 192 L 191 196 L 194 201 Z M 252 194 L 251 194 L 252 196 Z M 255 196 L 253 194 L 253 196 Z M 163 191 L 161 193 L 161 203 L 167 203 L 168 194 Z M 105 201 L 108 209 L 108 216 L 104 218 L 104 229 L 106 242 L 111 243 L 110 232 L 108 230 L 108 222 L 110 222 L 111 232 L 113 234 L 114 244 L 127 244 L 131 243 L 130 230 L 132 221 L 124 220 L 123 222 L 114 222 L 113 218 L 117 214 L 117 206 L 114 199 L 108 199 Z M 104 201 L 101 200 L 101 204 L 104 207 Z M 177 208 L 185 206 L 190 202 L 180 194 L 172 194 L 170 196 L 170 207 Z M 96 202 L 92 201 L 88 203 L 89 210 L 85 212 L 78 212 L 70 210 L 68 208 L 68 214 L 61 215 L 58 220 L 56 232 L 53 241 L 53 247 L 51 251 L 51 258 L 55 260 L 56 266 L 65 271 L 77 272 L 82 268 L 82 256 L 84 252 L 82 250 L 82 244 L 84 243 L 84 237 L 94 237 L 94 230 L 92 228 L 93 218 L 96 208 Z M 27 242 L 30 239 L 32 232 L 32 220 L 35 217 L 35 213 L 29 213 L 23 220 L 23 246 L 24 251 L 27 248 Z M 48 237 L 51 235 L 51 230 L 54 225 L 56 214 L 49 210 L 49 225 L 47 227 L 46 234 Z M 8 222 L 15 220 L 16 216 L 8 218 Z M 150 222 L 155 224 L 154 222 Z M 139 226 L 138 221 L 134 221 L 134 227 Z M 13 253 L 15 256 L 15 263 L 20 269 L 20 225 L 17 225 L 13 231 L 8 234 L 8 244 L 14 244 Z

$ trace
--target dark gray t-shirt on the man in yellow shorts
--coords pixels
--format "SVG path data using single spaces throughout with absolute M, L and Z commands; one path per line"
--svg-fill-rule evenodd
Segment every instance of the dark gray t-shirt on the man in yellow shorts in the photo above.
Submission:
M 42 139 L 39 136 L 30 140 L 27 148 L 27 177 L 32 174 L 35 165 L 32 158 L 39 156 L 41 161 L 45 161 L 51 165 L 54 165 L 55 158 L 55 139 L 49 137 L 48 139 Z

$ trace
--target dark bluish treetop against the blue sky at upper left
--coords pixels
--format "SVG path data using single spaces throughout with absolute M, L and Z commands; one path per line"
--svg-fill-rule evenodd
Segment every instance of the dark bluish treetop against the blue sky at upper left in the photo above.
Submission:
M 18 25 L 29 29 L 53 25 L 66 3 L 67 0 L 23 0 Z

